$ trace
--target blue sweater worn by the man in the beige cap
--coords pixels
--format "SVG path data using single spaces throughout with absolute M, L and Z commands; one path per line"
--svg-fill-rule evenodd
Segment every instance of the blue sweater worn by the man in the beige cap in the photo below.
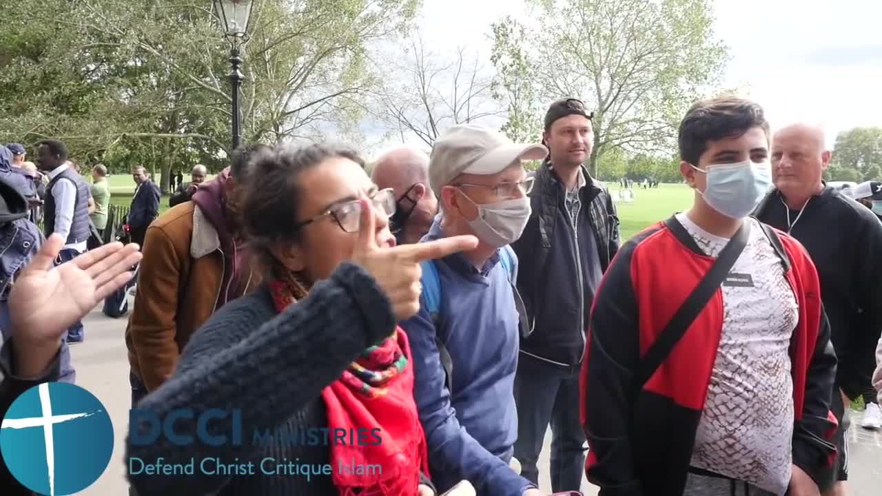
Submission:
M 440 237 L 436 220 L 424 241 Z M 401 323 L 414 357 L 414 396 L 432 480 L 439 492 L 467 479 L 479 494 L 520 496 L 532 485 L 508 466 L 518 437 L 513 387 L 519 349 L 509 275 L 498 252 L 480 271 L 460 253 L 434 263 L 441 284 L 437 327 L 424 301 Z M 517 259 L 512 263 L 517 267 Z M 436 335 L 452 358 L 452 394 Z

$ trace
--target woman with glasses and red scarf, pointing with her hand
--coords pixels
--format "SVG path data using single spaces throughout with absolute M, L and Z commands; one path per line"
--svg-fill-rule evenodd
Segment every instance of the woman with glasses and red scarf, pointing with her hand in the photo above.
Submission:
M 133 485 L 142 496 L 432 494 L 395 322 L 418 310 L 419 261 L 477 240 L 396 247 L 394 195 L 348 150 L 282 146 L 255 161 L 243 223 L 265 283 L 216 312 L 138 404 L 148 411 L 132 413 Z

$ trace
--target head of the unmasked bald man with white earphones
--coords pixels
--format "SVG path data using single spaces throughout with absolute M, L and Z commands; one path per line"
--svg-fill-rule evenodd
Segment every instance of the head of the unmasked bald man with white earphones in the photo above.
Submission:
M 772 138 L 772 174 L 775 187 L 791 203 L 802 208 L 824 187 L 824 171 L 830 165 L 824 129 L 819 124 L 789 124 Z

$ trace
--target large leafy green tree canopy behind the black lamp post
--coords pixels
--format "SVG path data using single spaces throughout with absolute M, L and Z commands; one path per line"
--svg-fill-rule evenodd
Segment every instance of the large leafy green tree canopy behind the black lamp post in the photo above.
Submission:
M 377 86 L 370 45 L 419 0 L 258 0 L 244 46 L 243 142 L 350 132 Z M 0 30 L 0 139 L 64 139 L 81 161 L 225 165 L 228 46 L 212 3 L 29 0 Z M 4 13 L 6 15 L 6 13 Z

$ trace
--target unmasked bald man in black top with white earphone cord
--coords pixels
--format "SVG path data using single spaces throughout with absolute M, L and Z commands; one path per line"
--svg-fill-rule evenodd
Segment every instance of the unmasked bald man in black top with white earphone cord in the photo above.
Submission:
M 796 237 L 818 267 L 821 299 L 839 359 L 831 401 L 840 421 L 838 473 L 832 477 L 833 489 L 824 493 L 841 495 L 848 480 L 848 403 L 871 387 L 873 350 L 882 332 L 882 223 L 854 199 L 824 184 L 830 159 L 818 125 L 793 124 L 775 132 L 775 187 L 755 214 Z

